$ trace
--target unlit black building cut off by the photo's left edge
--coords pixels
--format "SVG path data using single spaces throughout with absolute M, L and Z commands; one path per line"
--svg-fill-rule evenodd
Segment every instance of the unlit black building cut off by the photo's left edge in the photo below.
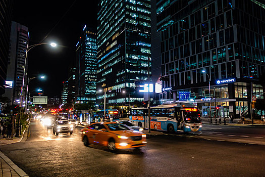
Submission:
M 13 0 L 0 0 L 0 96 L 5 93 Z

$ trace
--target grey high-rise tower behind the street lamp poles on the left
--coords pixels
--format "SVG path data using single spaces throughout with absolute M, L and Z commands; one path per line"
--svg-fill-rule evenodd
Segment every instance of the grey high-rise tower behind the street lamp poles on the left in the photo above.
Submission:
M 5 97 L 11 100 L 12 104 L 18 104 L 16 100 L 20 99 L 21 86 L 23 82 L 23 73 L 26 57 L 27 43 L 29 42 L 28 28 L 17 22 L 12 21 L 11 35 L 10 35 L 10 48 L 8 58 L 8 71 L 7 81 L 13 83 L 13 87 L 7 87 Z M 25 74 L 24 91 L 27 88 L 27 75 Z M 26 92 L 23 92 L 26 94 Z

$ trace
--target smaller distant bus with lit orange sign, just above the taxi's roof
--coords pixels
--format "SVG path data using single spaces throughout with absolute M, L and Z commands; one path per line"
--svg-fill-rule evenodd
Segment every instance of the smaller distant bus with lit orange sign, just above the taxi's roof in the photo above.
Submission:
M 107 117 L 107 119 L 111 119 L 111 117 L 113 118 L 113 120 L 120 120 L 120 114 L 118 109 L 105 109 L 105 116 Z M 101 110 L 93 110 L 92 111 L 92 117 L 94 118 L 100 118 L 100 117 L 104 117 L 104 109 Z

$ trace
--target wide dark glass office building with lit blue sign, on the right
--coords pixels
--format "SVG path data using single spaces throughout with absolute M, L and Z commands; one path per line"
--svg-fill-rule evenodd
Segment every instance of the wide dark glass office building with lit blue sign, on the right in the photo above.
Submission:
M 240 116 L 250 113 L 251 96 L 264 99 L 264 1 L 163 0 L 156 13 L 168 101 L 191 92 L 202 116 L 210 115 L 210 99 L 211 115 L 218 107 L 219 116 Z

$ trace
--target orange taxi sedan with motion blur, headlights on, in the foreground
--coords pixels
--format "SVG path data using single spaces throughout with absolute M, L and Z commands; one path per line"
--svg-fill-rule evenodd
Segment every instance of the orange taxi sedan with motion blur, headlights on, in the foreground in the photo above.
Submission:
M 82 130 L 82 141 L 116 149 L 139 148 L 146 145 L 146 135 L 117 122 L 93 123 Z

